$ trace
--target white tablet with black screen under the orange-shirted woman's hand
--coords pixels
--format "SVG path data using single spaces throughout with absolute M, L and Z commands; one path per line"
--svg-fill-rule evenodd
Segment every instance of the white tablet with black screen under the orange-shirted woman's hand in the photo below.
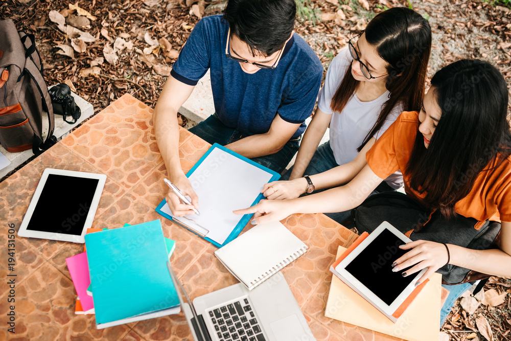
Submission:
M 392 315 L 415 289 L 427 268 L 403 277 L 403 269 L 392 272 L 392 263 L 409 250 L 399 245 L 411 242 L 384 221 L 346 256 L 335 270 L 345 283 L 387 316 Z

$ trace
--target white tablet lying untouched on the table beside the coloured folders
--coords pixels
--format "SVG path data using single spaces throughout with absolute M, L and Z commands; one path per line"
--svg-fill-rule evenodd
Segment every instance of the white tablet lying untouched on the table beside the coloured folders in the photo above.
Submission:
M 105 181 L 105 174 L 45 169 L 18 236 L 84 243 Z

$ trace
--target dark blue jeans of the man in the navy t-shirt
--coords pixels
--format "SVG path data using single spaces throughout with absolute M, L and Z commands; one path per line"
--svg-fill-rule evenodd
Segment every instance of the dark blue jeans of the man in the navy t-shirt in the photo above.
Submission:
M 234 128 L 225 126 L 215 114 L 200 122 L 195 127 L 190 128 L 189 131 L 205 140 L 207 143 L 218 143 L 222 146 L 248 136 Z M 254 157 L 251 160 L 280 174 L 298 151 L 299 141 L 300 137 L 291 139 L 278 152 Z M 257 148 L 257 146 L 254 146 L 254 149 L 255 148 Z

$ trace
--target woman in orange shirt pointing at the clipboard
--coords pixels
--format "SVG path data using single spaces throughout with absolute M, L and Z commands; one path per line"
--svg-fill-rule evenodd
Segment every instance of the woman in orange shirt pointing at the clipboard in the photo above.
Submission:
M 367 165 L 349 184 L 291 200 L 262 200 L 235 213 L 255 213 L 252 223 L 264 223 L 292 213 L 353 209 L 400 169 L 405 198 L 378 194 L 356 212 L 361 232 L 371 232 L 386 220 L 413 240 L 402 246 L 410 251 L 394 262 L 394 271 L 411 266 L 402 272 L 409 276 L 428 268 L 420 283 L 434 271 L 443 275 L 445 284 L 471 280 L 474 271 L 509 277 L 507 103 L 504 78 L 490 63 L 452 63 L 431 79 L 421 111 L 400 115 L 367 152 Z M 496 248 L 490 248 L 492 242 Z

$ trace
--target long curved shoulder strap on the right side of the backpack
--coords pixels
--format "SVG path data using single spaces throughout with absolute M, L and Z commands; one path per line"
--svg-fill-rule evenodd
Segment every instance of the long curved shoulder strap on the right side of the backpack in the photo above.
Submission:
M 55 130 L 55 117 L 53 114 L 52 99 L 50 98 L 50 94 L 48 93 L 46 82 L 44 81 L 44 78 L 42 77 L 38 67 L 34 64 L 32 59 L 27 59 L 27 62 L 25 63 L 25 69 L 23 70 L 21 75 L 25 73 L 27 73 L 30 76 L 30 78 L 32 78 L 32 80 L 37 86 L 37 89 L 39 90 L 39 93 L 41 94 L 42 107 L 43 109 L 46 110 L 48 114 L 48 122 L 50 124 L 48 129 L 48 136 L 44 143 L 42 143 L 42 140 L 37 136 L 34 139 L 32 150 L 34 151 L 35 155 L 39 155 L 42 152 L 41 150 L 47 150 L 48 148 L 57 143 L 57 138 L 53 135 L 53 132 Z M 41 150 L 39 150 L 39 148 Z

